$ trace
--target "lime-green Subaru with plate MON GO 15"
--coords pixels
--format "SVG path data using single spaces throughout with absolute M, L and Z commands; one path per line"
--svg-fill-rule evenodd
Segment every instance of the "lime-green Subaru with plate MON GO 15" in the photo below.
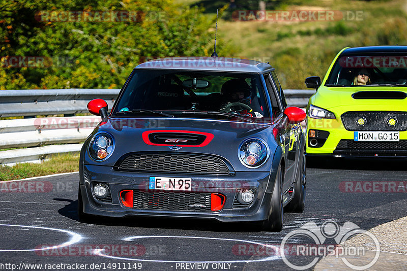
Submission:
M 308 156 L 407 157 L 407 46 L 344 48 L 305 84 Z

